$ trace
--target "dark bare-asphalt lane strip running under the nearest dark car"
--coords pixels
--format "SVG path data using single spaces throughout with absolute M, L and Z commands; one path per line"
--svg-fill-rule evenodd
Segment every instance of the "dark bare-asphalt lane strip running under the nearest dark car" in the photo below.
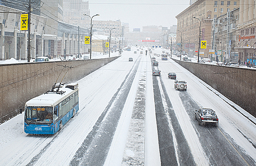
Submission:
M 243 150 L 236 145 L 232 138 L 226 133 L 225 136 L 221 129 L 212 125 L 197 125 L 195 110 L 201 107 L 191 98 L 188 92 L 179 92 L 179 97 L 194 129 L 197 131 L 198 138 L 211 166 L 243 166 L 248 165 L 246 161 L 254 163 L 253 159 L 244 154 Z

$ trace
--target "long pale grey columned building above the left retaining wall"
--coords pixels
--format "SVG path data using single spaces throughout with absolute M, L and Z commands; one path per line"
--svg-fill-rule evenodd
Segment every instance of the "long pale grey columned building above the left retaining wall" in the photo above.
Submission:
M 77 55 L 88 52 L 84 37 L 89 30 L 61 22 L 62 0 L 42 0 L 40 15 L 31 14 L 30 57 Z M 14 6 L 19 8 L 18 6 Z M 20 31 L 20 14 L 27 12 L 0 5 L 0 60 L 27 60 L 28 31 Z M 34 9 L 32 7 L 32 9 Z M 80 31 L 80 35 L 79 35 Z M 88 36 L 88 35 L 87 35 Z

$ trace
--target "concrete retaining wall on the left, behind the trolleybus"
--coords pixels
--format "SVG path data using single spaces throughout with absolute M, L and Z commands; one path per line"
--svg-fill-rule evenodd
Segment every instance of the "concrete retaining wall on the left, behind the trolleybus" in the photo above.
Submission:
M 57 83 L 63 77 L 62 83 L 73 83 L 118 57 L 0 65 L 0 124 L 23 111 L 28 100 L 50 90 L 58 77 Z

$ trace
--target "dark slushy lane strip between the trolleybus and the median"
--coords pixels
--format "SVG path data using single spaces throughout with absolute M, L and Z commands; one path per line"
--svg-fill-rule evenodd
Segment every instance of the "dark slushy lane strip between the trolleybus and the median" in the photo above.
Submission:
M 138 70 L 141 55 L 135 61 L 124 82 L 109 101 L 108 106 L 98 118 L 93 129 L 69 163 L 69 166 L 103 166 L 108 155 L 118 120 L 126 102 L 129 90 Z

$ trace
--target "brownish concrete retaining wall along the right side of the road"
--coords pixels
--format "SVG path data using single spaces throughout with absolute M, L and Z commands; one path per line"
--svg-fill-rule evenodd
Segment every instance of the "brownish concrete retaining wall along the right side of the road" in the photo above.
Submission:
M 173 60 L 256 117 L 256 70 Z

